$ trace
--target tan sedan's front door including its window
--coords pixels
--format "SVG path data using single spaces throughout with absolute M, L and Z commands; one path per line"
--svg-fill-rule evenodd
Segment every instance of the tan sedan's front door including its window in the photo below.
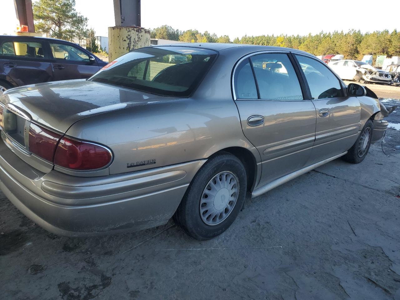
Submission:
M 360 126 L 360 102 L 345 95 L 345 86 L 317 58 L 296 54 L 308 98 L 316 109 L 316 134 L 312 155 L 307 164 L 343 153 L 356 141 Z

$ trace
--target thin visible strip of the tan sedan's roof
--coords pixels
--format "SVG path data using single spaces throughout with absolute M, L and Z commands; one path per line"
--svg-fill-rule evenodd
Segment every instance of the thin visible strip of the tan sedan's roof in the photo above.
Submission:
M 274 47 L 274 46 L 261 46 L 261 45 L 249 45 L 249 44 L 228 44 L 228 43 L 179 43 L 179 44 L 162 44 L 154 45 L 152 47 L 164 47 L 164 46 L 174 46 L 174 47 L 191 47 L 191 48 L 204 48 L 209 50 L 221 51 L 225 49 L 247 47 L 249 51 L 262 51 L 262 50 L 272 50 L 272 51 L 291 51 L 310 55 L 308 52 L 302 50 L 285 48 L 285 47 Z

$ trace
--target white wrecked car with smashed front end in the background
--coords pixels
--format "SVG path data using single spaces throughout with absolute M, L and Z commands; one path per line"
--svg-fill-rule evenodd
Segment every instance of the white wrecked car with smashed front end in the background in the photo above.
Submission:
M 355 80 L 361 83 L 392 83 L 392 76 L 390 76 L 389 72 L 378 70 L 366 62 L 346 59 L 330 62 L 328 66 L 344 80 Z

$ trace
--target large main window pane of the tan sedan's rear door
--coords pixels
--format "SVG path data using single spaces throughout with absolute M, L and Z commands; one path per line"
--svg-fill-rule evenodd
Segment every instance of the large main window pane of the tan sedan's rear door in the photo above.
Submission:
M 303 100 L 296 72 L 286 54 L 258 54 L 251 61 L 261 99 Z

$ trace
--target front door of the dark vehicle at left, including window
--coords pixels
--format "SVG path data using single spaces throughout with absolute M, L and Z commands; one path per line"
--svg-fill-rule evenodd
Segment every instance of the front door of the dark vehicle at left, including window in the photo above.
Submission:
M 97 60 L 89 59 L 89 52 L 78 46 L 62 42 L 50 42 L 53 56 L 54 80 L 89 78 L 99 70 Z

